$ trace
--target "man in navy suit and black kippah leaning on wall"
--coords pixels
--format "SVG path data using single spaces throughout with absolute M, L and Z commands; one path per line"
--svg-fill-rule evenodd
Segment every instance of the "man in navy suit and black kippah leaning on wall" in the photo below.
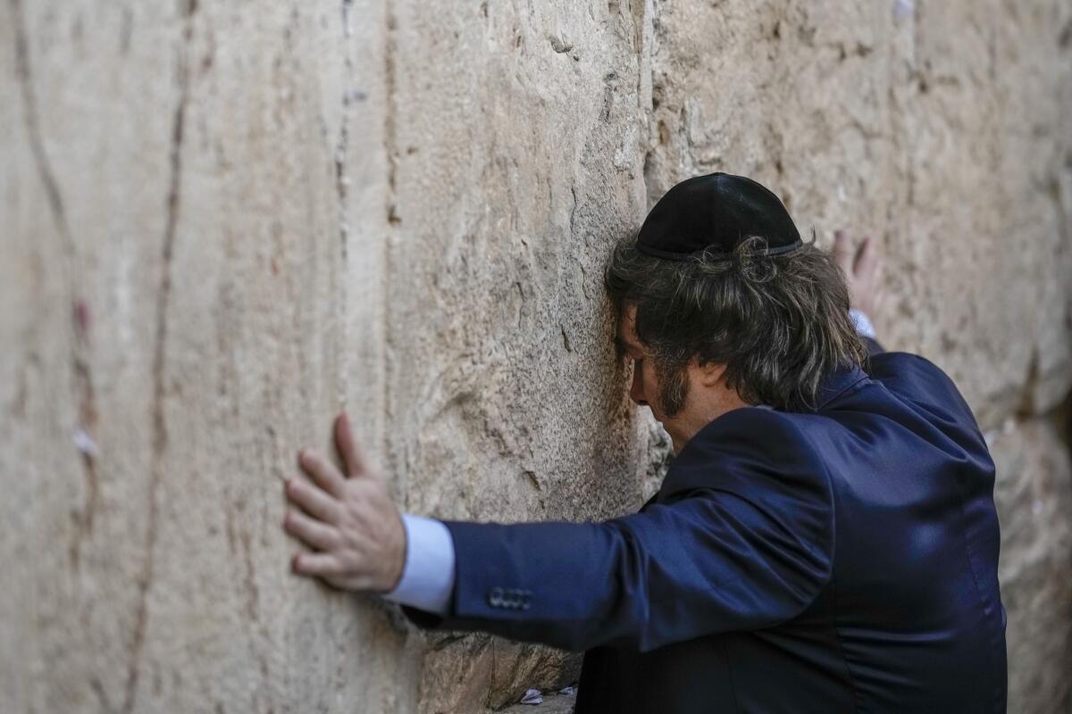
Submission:
M 853 329 L 878 264 L 803 242 L 754 181 L 678 184 L 606 279 L 630 396 L 676 453 L 640 513 L 400 518 L 343 416 L 348 477 L 303 452 L 314 483 L 287 485 L 317 551 L 296 572 L 585 650 L 581 714 L 1003 712 L 994 464 L 938 367 Z

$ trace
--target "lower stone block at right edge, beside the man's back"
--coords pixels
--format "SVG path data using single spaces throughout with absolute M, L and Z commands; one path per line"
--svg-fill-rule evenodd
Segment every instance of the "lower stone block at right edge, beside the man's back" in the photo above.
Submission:
M 998 578 L 1008 623 L 1009 712 L 1072 707 L 1072 462 L 1068 413 L 986 434 L 997 466 Z

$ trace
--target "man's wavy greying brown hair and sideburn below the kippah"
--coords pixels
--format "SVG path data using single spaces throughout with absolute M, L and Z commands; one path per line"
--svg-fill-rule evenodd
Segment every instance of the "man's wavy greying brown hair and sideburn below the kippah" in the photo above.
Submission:
M 680 392 L 665 395 L 679 408 L 693 358 L 725 364 L 727 385 L 745 402 L 785 411 L 815 409 L 827 375 L 867 361 L 845 275 L 814 232 L 780 256 L 751 237 L 725 261 L 706 253 L 664 260 L 637 250 L 630 238 L 615 246 L 604 283 L 619 314 L 636 306 L 637 338 L 652 351 L 659 381 Z

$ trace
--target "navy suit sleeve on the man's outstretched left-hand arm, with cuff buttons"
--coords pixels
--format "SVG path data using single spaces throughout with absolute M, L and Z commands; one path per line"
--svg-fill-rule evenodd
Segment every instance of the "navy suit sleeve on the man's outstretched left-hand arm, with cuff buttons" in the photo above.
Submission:
M 822 464 L 783 414 L 739 409 L 675 459 L 656 502 L 599 523 L 447 521 L 457 578 L 447 614 L 417 624 L 567 650 L 644 652 L 789 620 L 831 574 Z

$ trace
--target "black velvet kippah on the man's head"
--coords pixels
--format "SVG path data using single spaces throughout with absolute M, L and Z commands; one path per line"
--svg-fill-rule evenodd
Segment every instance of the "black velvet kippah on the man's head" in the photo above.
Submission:
M 777 196 L 743 176 L 709 173 L 682 181 L 659 199 L 640 227 L 637 249 L 667 260 L 689 260 L 706 249 L 718 261 L 751 236 L 766 239 L 772 256 L 803 245 Z

